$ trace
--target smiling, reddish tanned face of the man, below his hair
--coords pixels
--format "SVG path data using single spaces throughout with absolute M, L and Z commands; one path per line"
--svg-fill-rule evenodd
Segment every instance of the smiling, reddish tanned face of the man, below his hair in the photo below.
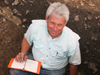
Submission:
M 46 22 L 47 22 L 48 32 L 52 37 L 52 39 L 60 36 L 63 27 L 66 25 L 64 17 L 58 18 L 53 14 L 51 14 L 48 19 L 46 18 Z

